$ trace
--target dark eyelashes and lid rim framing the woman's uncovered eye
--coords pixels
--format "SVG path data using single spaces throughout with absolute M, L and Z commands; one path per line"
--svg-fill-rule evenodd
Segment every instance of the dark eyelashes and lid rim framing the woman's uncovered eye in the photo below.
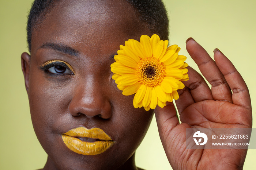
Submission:
M 49 69 L 52 68 L 52 67 L 56 67 L 56 66 L 61 66 L 61 67 L 64 67 L 64 68 L 68 69 L 69 72 L 71 72 L 71 74 L 67 74 L 67 73 L 51 73 L 49 71 Z M 64 75 L 64 74 L 75 75 L 75 73 L 71 71 L 73 69 L 69 68 L 64 62 L 61 62 L 61 61 L 48 61 L 48 62 L 40 65 L 39 68 L 41 70 L 45 71 L 46 73 L 52 74 L 54 76 L 59 76 L 59 75 Z M 66 70 L 65 70 L 65 72 L 66 72 Z

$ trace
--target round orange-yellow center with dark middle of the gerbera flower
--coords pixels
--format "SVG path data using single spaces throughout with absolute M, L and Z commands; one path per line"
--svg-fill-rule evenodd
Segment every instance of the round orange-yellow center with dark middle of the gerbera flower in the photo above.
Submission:
M 155 87 L 165 77 L 165 65 L 159 63 L 159 60 L 155 57 L 147 57 L 138 63 L 136 73 L 142 84 Z

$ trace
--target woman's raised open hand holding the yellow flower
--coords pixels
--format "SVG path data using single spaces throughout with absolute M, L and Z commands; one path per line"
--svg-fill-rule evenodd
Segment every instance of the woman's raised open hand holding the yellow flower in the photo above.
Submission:
M 204 78 L 188 67 L 189 80 L 173 103 L 155 109 L 158 131 L 173 169 L 242 169 L 245 149 L 186 149 L 186 128 L 252 128 L 248 88 L 233 64 L 219 51 L 214 60 L 195 40 L 187 40 L 187 51 Z M 232 94 L 232 92 L 233 94 Z

